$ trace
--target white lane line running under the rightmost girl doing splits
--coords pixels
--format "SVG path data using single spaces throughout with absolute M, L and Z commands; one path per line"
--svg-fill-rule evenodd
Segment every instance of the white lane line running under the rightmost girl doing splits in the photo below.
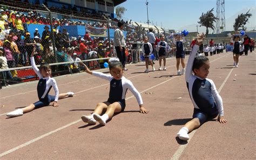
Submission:
M 220 88 L 218 90 L 218 92 L 220 93 L 220 91 L 223 89 L 223 86 L 226 84 L 227 82 L 227 79 L 230 77 L 231 75 L 231 72 L 233 71 L 234 68 L 232 68 L 230 70 L 230 72 L 228 73 L 227 77 L 225 78 L 224 82 L 220 85 Z M 197 129 L 196 130 L 193 130 L 191 133 L 190 133 L 190 139 L 187 141 L 186 144 L 184 145 L 180 145 L 179 148 L 176 150 L 176 152 L 172 155 L 172 160 L 176 160 L 176 159 L 179 159 L 181 154 L 183 153 L 183 151 L 186 149 L 188 143 L 190 142 L 190 140 L 192 139 L 192 137 L 194 136 L 194 134 L 197 132 Z

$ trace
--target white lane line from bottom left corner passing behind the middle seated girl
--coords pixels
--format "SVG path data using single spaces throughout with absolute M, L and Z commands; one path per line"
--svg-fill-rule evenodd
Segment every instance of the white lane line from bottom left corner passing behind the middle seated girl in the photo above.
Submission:
M 223 56 L 223 57 L 225 57 L 225 56 Z M 220 57 L 220 58 L 221 58 L 221 57 Z M 220 58 L 218 58 L 218 59 L 220 59 Z M 213 61 L 215 61 L 215 60 L 213 60 Z M 212 61 L 211 61 L 211 62 L 212 62 Z M 175 66 L 175 65 L 173 65 L 173 66 Z M 137 76 L 138 76 L 138 75 L 137 75 Z M 169 82 L 169 81 L 171 81 L 172 79 L 177 78 L 177 77 L 179 77 L 179 76 L 170 78 L 170 79 L 168 79 L 168 80 L 166 80 L 166 81 L 164 81 L 164 82 L 161 82 L 161 83 L 159 83 L 159 84 L 157 84 L 157 85 L 152 86 L 151 88 L 148 88 L 148 89 L 146 89 L 146 90 L 143 90 L 143 91 L 141 91 L 140 93 L 143 93 L 143 92 L 145 92 L 145 91 L 147 91 L 147 90 L 153 89 L 153 88 L 155 88 L 156 86 L 159 86 L 159 85 L 161 85 L 161 84 L 164 84 L 164 83 L 166 83 L 166 82 Z M 130 97 L 126 98 L 126 100 L 131 99 L 131 98 L 133 98 L 133 97 L 134 97 L 134 96 L 130 96 Z M 18 149 L 21 149 L 21 148 L 25 147 L 25 146 L 28 146 L 28 145 L 31 144 L 31 143 L 34 143 L 34 142 L 36 142 L 36 141 L 38 141 L 38 140 L 41 140 L 41 139 L 43 139 L 43 138 L 46 137 L 46 136 L 49 136 L 49 135 L 51 135 L 51 134 L 53 134 L 53 133 L 56 133 L 56 132 L 58 132 L 59 130 L 62 130 L 62 129 L 64 129 L 64 128 L 67 128 L 67 127 L 69 127 L 69 126 L 71 126 L 71 125 L 74 125 L 74 124 L 80 122 L 80 121 L 82 121 L 82 120 L 79 119 L 79 120 L 73 121 L 73 122 L 69 123 L 68 125 L 65 125 L 65 126 L 63 126 L 63 127 L 57 128 L 57 129 L 55 129 L 55 130 L 52 130 L 51 132 L 48 132 L 48 133 L 43 134 L 43 135 L 41 135 L 41 136 L 39 136 L 39 137 L 36 137 L 35 139 L 32 139 L 32 140 L 30 140 L 30 141 L 28 141 L 28 142 L 25 142 L 25 143 L 23 143 L 23 144 L 21 144 L 21 145 L 15 147 L 15 148 L 12 148 L 12 149 L 10 149 L 10 150 L 8 150 L 8 151 L 2 152 L 2 153 L 0 154 L 0 157 L 3 157 L 4 155 L 10 154 L 11 152 L 14 152 L 14 151 L 16 151 L 16 150 L 18 150 Z M 184 148 L 184 149 L 185 149 L 185 148 Z M 182 153 L 182 152 L 181 152 L 181 153 Z

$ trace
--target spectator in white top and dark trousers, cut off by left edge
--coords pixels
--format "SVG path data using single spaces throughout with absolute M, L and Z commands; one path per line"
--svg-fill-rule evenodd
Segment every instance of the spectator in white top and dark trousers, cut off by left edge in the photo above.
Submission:
M 4 53 L 4 48 L 3 47 L 0 47 L 0 64 L 1 64 L 0 69 L 8 69 L 8 63 L 7 63 L 7 59 L 5 57 L 5 53 Z M 0 72 L 0 74 L 2 75 L 1 72 Z M 12 78 L 13 77 L 11 75 L 10 70 L 3 71 L 3 79 L 12 79 Z

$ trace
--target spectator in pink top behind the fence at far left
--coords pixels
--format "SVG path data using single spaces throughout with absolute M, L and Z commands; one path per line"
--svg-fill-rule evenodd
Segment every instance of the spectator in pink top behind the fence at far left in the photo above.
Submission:
M 5 40 L 4 53 L 5 53 L 5 57 L 7 59 L 7 64 L 9 68 L 15 67 L 14 55 L 12 52 L 13 52 L 13 49 L 11 48 L 11 42 L 9 40 Z

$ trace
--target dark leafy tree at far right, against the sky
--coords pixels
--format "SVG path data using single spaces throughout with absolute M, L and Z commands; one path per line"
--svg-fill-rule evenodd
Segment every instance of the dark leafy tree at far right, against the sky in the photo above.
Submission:
M 250 10 L 248 10 L 248 12 L 241 13 L 240 15 L 237 16 L 237 18 L 235 18 L 235 23 L 233 25 L 234 27 L 234 31 L 238 31 L 239 29 L 241 30 L 246 30 L 246 23 L 249 20 L 250 17 L 252 17 L 252 14 L 249 13 Z

